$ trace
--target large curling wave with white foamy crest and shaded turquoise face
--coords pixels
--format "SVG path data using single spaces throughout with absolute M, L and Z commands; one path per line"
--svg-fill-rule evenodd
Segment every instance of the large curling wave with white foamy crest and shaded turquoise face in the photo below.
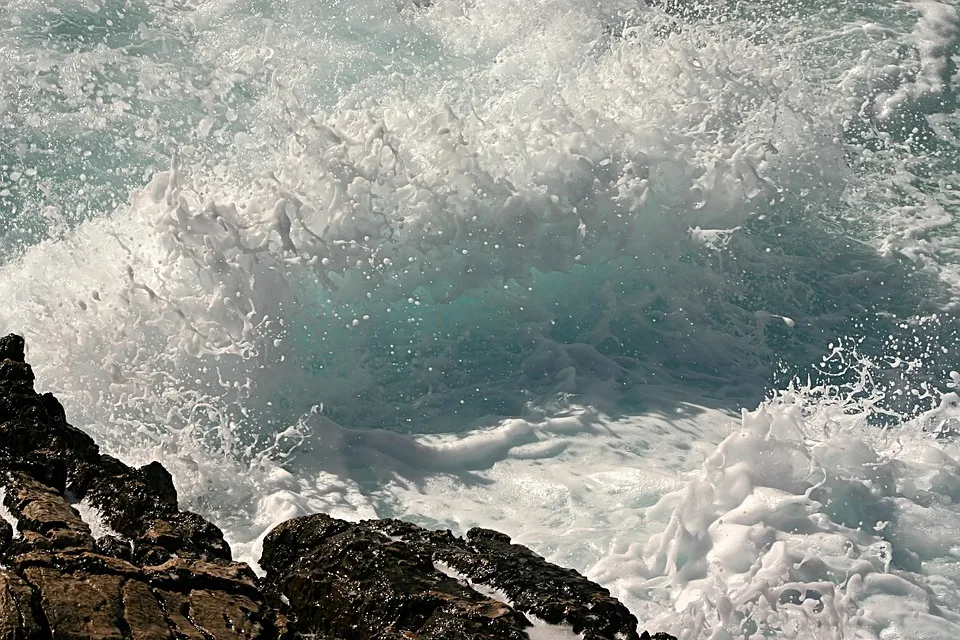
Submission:
M 570 18 L 557 20 L 476 85 L 518 82 L 521 56 L 550 50 Z M 229 447 L 256 437 L 235 425 L 283 430 L 318 401 L 400 429 L 450 401 L 480 418 L 660 380 L 749 401 L 772 354 L 809 361 L 851 317 L 929 304 L 911 265 L 804 222 L 853 179 L 842 119 L 809 115 L 823 96 L 785 88 L 749 42 L 677 33 L 648 51 L 638 30 L 554 86 L 484 100 L 401 87 L 311 114 L 278 84 L 289 133 L 271 171 L 237 188 L 175 158 L 125 210 L 9 265 L 5 324 L 62 336 L 60 363 L 37 359 L 51 382 L 105 353 L 62 383 L 102 394 L 111 420 L 216 414 L 202 437 Z M 724 386 L 734 371 L 739 391 Z

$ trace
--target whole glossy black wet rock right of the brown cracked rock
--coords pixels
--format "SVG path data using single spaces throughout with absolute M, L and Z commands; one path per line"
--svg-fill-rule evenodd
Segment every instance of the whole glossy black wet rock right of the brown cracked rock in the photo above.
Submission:
M 277 526 L 263 549 L 266 582 L 289 600 L 301 633 L 524 638 L 531 614 L 585 640 L 641 638 L 606 589 L 495 531 L 473 529 L 464 540 L 398 520 L 317 514 Z M 491 589 L 502 596 L 484 595 Z

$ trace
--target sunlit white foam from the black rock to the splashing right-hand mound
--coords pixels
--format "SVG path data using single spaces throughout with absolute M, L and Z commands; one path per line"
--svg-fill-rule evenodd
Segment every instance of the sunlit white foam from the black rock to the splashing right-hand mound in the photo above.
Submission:
M 717 424 L 686 450 L 686 464 L 703 460 L 693 472 L 647 440 L 667 425 L 676 438 L 688 419 L 607 422 L 611 435 L 571 443 L 589 453 L 482 473 L 494 503 L 470 478 L 391 492 L 405 517 L 498 526 L 592 565 L 645 626 L 681 638 L 950 638 L 960 467 L 956 445 L 934 434 L 957 420 L 957 400 L 891 431 L 865 431 L 866 414 L 809 390 L 739 426 L 707 412 L 693 424 Z

